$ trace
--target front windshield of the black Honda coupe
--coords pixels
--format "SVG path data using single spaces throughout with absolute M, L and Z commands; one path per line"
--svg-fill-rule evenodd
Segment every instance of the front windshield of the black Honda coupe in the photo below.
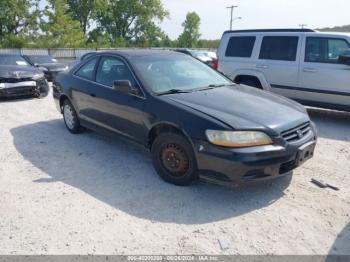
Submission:
M 233 84 L 207 65 L 185 55 L 135 57 L 132 64 L 155 93 L 194 91 Z

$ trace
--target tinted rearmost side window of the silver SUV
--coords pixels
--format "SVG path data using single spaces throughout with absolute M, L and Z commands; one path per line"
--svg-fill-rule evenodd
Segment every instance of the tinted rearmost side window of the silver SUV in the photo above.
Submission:
M 228 57 L 251 57 L 255 36 L 234 36 L 228 42 L 225 56 Z

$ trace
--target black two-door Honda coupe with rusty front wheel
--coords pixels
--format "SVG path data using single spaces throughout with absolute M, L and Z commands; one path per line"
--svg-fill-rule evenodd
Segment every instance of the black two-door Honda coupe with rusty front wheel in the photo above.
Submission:
M 71 133 L 84 126 L 137 141 L 176 185 L 276 178 L 314 153 L 316 130 L 303 106 L 176 52 L 98 53 L 60 74 L 53 89 Z

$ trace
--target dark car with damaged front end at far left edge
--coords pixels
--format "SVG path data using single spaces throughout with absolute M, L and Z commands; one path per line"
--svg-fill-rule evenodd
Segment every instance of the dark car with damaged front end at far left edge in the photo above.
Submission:
M 44 97 L 49 86 L 44 74 L 20 55 L 0 55 L 0 97 Z

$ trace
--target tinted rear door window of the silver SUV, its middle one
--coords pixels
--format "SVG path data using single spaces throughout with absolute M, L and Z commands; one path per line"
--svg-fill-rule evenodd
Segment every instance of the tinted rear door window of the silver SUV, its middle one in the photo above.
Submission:
M 261 44 L 259 59 L 295 61 L 299 37 L 265 36 Z

